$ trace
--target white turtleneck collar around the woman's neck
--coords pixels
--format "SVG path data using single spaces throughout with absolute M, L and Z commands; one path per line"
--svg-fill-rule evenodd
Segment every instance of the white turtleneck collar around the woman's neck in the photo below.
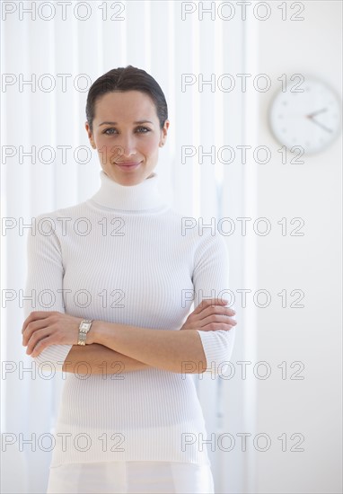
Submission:
M 136 185 L 121 185 L 110 179 L 103 170 L 100 178 L 101 187 L 90 200 L 102 207 L 143 212 L 166 206 L 158 191 L 158 175 L 155 172 Z

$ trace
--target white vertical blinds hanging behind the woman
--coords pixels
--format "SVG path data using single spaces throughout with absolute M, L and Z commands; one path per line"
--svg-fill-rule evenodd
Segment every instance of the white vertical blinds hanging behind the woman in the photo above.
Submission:
M 84 130 L 87 90 L 119 66 L 153 75 L 171 120 L 156 168 L 164 196 L 204 225 L 243 216 L 244 172 L 219 153 L 244 142 L 243 95 L 225 92 L 220 76 L 244 71 L 248 27 L 238 16 L 225 22 L 215 2 L 4 2 L 2 19 L 3 490 L 44 492 L 51 453 L 43 435 L 52 431 L 64 379 L 39 373 L 22 348 L 26 234 L 35 216 L 100 186 Z M 242 286 L 242 238 L 225 239 L 233 286 Z M 238 335 L 235 356 L 242 341 Z M 216 491 L 242 492 L 248 457 L 221 450 L 216 438 L 243 432 L 251 395 L 231 380 L 195 380 L 216 435 L 215 447 L 207 444 Z

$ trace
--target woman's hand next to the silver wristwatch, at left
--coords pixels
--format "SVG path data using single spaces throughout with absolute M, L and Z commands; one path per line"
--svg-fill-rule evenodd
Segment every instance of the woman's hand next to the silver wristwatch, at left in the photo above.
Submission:
M 37 357 L 50 345 L 77 345 L 82 317 L 66 313 L 32 312 L 22 324 L 22 345 L 27 355 Z

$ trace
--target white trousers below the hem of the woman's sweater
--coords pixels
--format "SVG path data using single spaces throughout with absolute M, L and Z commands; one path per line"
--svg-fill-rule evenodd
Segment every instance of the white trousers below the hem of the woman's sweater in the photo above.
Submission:
M 47 494 L 213 494 L 210 465 L 175 462 L 67 463 L 50 467 Z

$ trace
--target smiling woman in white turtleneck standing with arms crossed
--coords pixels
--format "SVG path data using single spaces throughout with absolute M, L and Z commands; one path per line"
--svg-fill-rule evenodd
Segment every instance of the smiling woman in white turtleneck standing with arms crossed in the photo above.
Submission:
M 22 342 L 67 373 L 48 493 L 214 492 L 191 374 L 219 374 L 233 349 L 224 241 L 183 231 L 158 192 L 169 120 L 151 75 L 102 75 L 86 116 L 101 187 L 40 215 L 28 240 L 40 306 L 27 303 Z

